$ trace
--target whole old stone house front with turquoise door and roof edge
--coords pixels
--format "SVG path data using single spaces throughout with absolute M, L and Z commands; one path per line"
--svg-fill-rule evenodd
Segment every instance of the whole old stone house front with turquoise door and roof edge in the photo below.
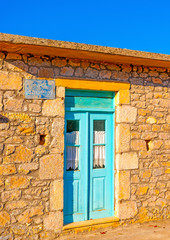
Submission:
M 0 236 L 168 218 L 169 153 L 169 55 L 0 34 Z

